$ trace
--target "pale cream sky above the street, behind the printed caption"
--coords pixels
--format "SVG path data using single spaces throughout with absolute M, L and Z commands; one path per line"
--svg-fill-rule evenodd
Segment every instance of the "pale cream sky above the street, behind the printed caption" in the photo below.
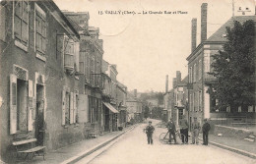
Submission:
M 117 80 L 128 90 L 164 91 L 176 71 L 187 76 L 186 58 L 191 53 L 191 20 L 197 18 L 197 45 L 200 43 L 201 4 L 208 3 L 210 37 L 232 16 L 232 0 L 53 0 L 61 10 L 89 12 L 90 27 L 99 27 L 103 59 L 117 65 Z M 256 0 L 233 0 L 234 15 L 249 8 L 254 15 Z M 100 15 L 99 12 L 103 14 Z M 148 12 L 147 15 L 105 14 L 110 11 Z M 149 12 L 186 14 L 149 14 Z

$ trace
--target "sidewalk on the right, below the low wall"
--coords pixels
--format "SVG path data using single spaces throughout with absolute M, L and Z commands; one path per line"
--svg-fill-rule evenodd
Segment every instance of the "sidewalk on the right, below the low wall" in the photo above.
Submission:
M 199 135 L 199 138 L 203 141 L 202 134 Z M 256 159 L 256 142 L 233 137 L 217 137 L 209 135 L 209 144 Z

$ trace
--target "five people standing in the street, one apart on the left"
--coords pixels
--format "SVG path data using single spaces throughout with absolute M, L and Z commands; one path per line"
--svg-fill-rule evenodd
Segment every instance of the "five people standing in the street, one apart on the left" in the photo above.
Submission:
M 180 134 L 181 135 L 181 140 L 183 144 L 187 144 L 188 143 L 188 122 L 185 118 L 185 116 L 183 116 L 182 120 L 180 120 Z M 176 141 L 176 126 L 172 120 L 172 118 L 170 118 L 169 122 L 166 125 L 166 128 L 168 129 L 168 133 L 169 133 L 169 143 L 171 143 L 171 138 L 173 137 L 174 140 L 174 144 L 177 143 Z M 210 124 L 208 123 L 207 119 L 204 119 L 204 125 L 202 127 L 202 132 L 203 132 L 203 144 L 204 145 L 208 145 L 208 134 L 209 131 L 211 129 Z M 154 126 L 152 126 L 152 121 L 149 121 L 149 125 L 146 127 L 145 132 L 147 134 L 147 138 L 148 138 L 148 144 L 153 144 L 153 133 L 155 131 Z M 198 136 L 199 133 L 201 131 L 201 126 L 200 123 L 197 121 L 197 118 L 194 118 L 194 122 L 191 124 L 191 134 L 192 134 L 192 143 L 191 144 L 198 144 Z

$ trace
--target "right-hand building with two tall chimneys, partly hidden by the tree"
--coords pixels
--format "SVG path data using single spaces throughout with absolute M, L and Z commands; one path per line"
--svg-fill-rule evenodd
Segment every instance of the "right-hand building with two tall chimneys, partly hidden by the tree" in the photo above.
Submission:
M 189 123 L 193 121 L 193 118 L 197 118 L 201 124 L 203 119 L 211 119 L 213 124 L 218 124 L 235 121 L 237 117 L 241 122 L 246 118 L 255 118 L 255 114 L 251 114 L 254 111 L 253 107 L 252 110 L 248 108 L 243 112 L 238 107 L 234 113 L 230 113 L 228 107 L 226 109 L 217 108 L 218 99 L 211 95 L 211 86 L 216 79 L 209 75 L 213 71 L 212 56 L 223 50 L 226 42 L 225 27 L 232 27 L 234 21 L 243 23 L 247 20 L 255 21 L 255 16 L 234 16 L 207 38 L 207 4 L 203 3 L 201 6 L 201 43 L 198 46 L 196 46 L 197 20 L 192 20 L 192 52 L 187 57 Z

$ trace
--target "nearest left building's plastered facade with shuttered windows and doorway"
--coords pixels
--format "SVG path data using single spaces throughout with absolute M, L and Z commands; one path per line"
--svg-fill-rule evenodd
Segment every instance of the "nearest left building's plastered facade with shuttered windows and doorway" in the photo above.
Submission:
M 1 1 L 1 21 L 3 160 L 18 139 L 36 138 L 46 150 L 83 139 L 77 30 L 53 1 Z

